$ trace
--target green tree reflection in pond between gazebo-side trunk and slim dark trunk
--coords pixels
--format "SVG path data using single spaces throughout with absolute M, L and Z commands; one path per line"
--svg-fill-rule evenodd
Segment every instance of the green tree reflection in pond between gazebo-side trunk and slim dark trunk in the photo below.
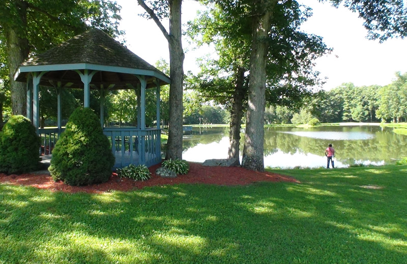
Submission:
M 192 127 L 192 133 L 183 137 L 182 149 L 185 151 L 198 144 L 219 143 L 222 138 L 229 136 L 228 129 L 228 127 Z

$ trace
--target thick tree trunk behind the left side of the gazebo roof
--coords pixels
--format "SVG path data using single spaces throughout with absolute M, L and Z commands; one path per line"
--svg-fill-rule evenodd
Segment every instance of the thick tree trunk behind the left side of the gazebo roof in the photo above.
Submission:
M 19 22 L 24 26 L 27 23 L 26 17 L 26 3 L 23 1 L 16 1 L 17 15 L 19 16 Z M 14 115 L 26 115 L 26 84 L 14 81 L 14 73 L 21 64 L 28 57 L 30 47 L 28 46 L 28 40 L 25 37 L 25 32 L 17 31 L 18 26 L 5 25 L 6 35 L 6 53 L 9 66 L 9 77 L 11 87 L 11 105 Z

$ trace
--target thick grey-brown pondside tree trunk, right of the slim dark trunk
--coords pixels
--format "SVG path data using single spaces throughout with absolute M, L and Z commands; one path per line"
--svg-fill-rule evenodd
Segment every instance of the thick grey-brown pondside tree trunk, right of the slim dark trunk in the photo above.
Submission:
M 266 62 L 272 5 L 275 1 L 258 1 L 264 13 L 253 17 L 252 49 L 250 55 L 249 97 L 243 147 L 242 166 L 249 170 L 264 171 L 264 112 L 266 91 Z M 260 12 L 260 8 L 257 8 Z

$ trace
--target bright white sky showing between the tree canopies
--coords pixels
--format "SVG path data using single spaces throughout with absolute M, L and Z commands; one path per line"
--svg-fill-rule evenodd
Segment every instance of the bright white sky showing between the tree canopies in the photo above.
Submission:
M 122 6 L 120 29 L 126 31 L 127 47 L 150 64 L 154 65 L 161 58 L 169 61 L 166 39 L 152 20 L 137 15 L 143 13 L 137 2 L 117 2 Z M 356 13 L 317 0 L 299 2 L 313 9 L 313 16 L 301 30 L 323 37 L 327 46 L 333 48 L 331 54 L 315 61 L 314 69 L 321 72 L 322 78 L 328 78 L 322 88 L 329 90 L 345 82 L 353 82 L 356 86 L 383 86 L 394 80 L 396 72 L 407 72 L 407 39 L 390 39 L 384 43 L 367 40 L 363 19 Z M 182 22 L 186 24 L 200 7 L 195 1 L 184 0 L 182 8 Z M 167 21 L 163 24 L 168 28 Z M 187 41 L 183 41 L 183 48 L 184 72 L 196 74 L 199 71 L 196 58 L 207 54 L 209 49 L 193 49 Z

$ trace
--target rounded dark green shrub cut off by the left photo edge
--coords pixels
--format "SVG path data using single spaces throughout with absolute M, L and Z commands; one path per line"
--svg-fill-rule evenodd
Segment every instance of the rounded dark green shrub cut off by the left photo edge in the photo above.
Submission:
M 0 133 L 0 172 L 24 173 L 38 170 L 41 140 L 30 119 L 12 116 Z

